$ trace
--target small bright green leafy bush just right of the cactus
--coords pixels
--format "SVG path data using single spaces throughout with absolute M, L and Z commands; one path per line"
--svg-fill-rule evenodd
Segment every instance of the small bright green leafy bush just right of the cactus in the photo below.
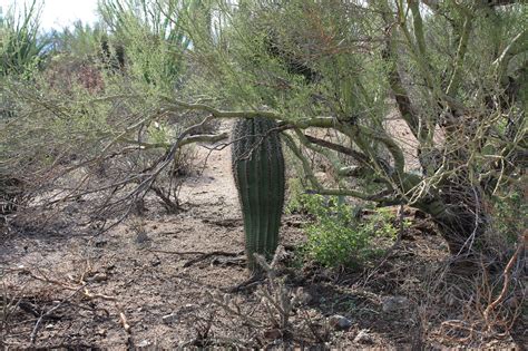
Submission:
M 315 220 L 305 227 L 304 253 L 324 266 L 358 267 L 384 252 L 380 242 L 397 237 L 398 228 L 387 209 L 360 218 L 358 211 L 338 196 L 303 195 L 302 203 Z

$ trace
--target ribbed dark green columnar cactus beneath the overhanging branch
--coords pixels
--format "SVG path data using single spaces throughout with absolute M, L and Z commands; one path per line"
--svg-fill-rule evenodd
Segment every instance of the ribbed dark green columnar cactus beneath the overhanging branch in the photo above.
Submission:
M 284 205 L 284 156 L 277 124 L 257 117 L 237 120 L 233 130 L 233 175 L 244 217 L 248 269 L 258 271 L 254 254 L 270 259 L 278 244 Z

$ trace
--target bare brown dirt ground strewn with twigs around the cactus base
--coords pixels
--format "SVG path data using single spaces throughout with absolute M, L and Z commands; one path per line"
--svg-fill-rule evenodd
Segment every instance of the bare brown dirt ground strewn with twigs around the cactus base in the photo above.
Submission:
M 247 277 L 228 148 L 212 153 L 180 196 L 187 211 L 166 215 L 147 203 L 143 218 L 104 235 L 59 228 L 19 233 L 1 243 L 3 347 L 521 348 L 522 340 L 515 342 L 509 334 L 477 338 L 459 328 L 478 319 L 478 311 L 463 302 L 469 301 L 463 286 L 477 280 L 447 273 L 446 246 L 423 220 L 405 233 L 390 260 L 361 272 L 322 270 L 286 250 L 275 283 L 283 281 L 296 304 L 281 330 L 262 294 L 226 293 Z M 303 221 L 284 218 L 286 248 L 303 242 Z M 212 252 L 231 255 L 204 256 Z M 335 328 L 332 316 L 338 314 L 350 325 Z

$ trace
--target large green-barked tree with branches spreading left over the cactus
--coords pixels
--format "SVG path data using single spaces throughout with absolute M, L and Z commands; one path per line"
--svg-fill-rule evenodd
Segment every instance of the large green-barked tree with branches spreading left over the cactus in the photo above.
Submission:
M 162 149 L 153 164 L 102 187 L 117 194 L 136 184 L 124 199 L 147 191 L 184 145 L 225 137 L 193 136 L 203 123 L 186 125 L 169 140 L 146 133 L 189 114 L 204 123 L 275 120 L 274 131 L 299 158 L 312 193 L 418 207 L 432 216 L 457 256 L 489 247 L 483 240 L 493 221 L 489 199 L 522 184 L 528 91 L 522 1 L 101 4 L 125 51 L 128 45 L 136 57 L 127 74 L 108 76 L 97 96 L 80 91 L 66 99 L 38 85 L 4 91 L 18 91 L 26 116 L 39 113 L 53 126 L 78 128 L 76 145 L 92 158 L 76 162 L 77 168 Z M 156 42 L 163 45 L 148 49 Z M 124 116 L 116 118 L 116 111 Z M 12 138 L 14 127 L 26 130 L 11 124 L 2 133 Z M 333 130 L 340 142 L 322 139 L 313 128 Z M 57 133 L 52 138 L 40 130 L 25 135 L 33 144 L 62 138 L 72 145 L 58 129 L 47 129 Z M 306 149 L 329 160 L 335 187 L 322 185 Z M 69 198 L 86 192 L 70 189 Z

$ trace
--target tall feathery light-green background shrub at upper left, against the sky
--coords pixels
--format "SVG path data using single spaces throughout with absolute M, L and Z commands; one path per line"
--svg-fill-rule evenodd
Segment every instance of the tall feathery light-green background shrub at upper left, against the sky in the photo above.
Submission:
M 99 12 L 114 35 L 113 43 L 125 48 L 128 72 L 136 79 L 172 92 L 185 72 L 184 53 L 190 41 L 172 17 L 176 9 L 196 1 L 105 0 Z

